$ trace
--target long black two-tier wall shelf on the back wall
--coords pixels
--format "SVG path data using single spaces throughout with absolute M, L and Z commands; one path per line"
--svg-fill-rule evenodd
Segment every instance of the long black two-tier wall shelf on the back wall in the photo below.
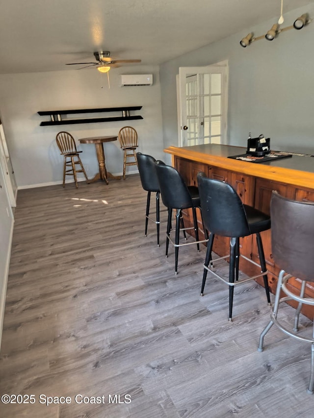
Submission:
M 70 125 L 74 123 L 97 123 L 97 122 L 115 122 L 115 121 L 132 121 L 143 119 L 142 116 L 131 116 L 131 110 L 140 110 L 142 106 L 124 106 L 124 107 L 105 107 L 96 109 L 73 109 L 73 110 L 46 110 L 37 112 L 40 116 L 50 116 L 50 121 L 41 122 L 40 126 L 49 125 Z M 101 113 L 101 112 L 122 112 L 122 116 L 109 118 L 85 118 L 85 119 L 65 119 L 62 120 L 61 115 L 73 115 L 81 113 Z

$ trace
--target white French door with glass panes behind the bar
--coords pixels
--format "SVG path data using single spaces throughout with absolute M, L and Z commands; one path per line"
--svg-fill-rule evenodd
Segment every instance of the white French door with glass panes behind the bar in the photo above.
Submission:
M 179 68 L 179 145 L 225 144 L 226 65 Z

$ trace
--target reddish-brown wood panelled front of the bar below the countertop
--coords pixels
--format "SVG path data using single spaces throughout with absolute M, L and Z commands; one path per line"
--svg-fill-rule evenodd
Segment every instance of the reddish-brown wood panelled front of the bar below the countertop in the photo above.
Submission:
M 274 190 L 276 190 L 281 196 L 290 199 L 299 201 L 314 201 L 314 190 L 296 187 L 281 181 L 274 181 L 262 177 L 256 177 L 254 175 L 234 172 L 223 167 L 219 167 L 218 165 L 207 165 L 197 161 L 175 157 L 175 166 L 177 170 L 183 175 L 186 184 L 197 186 L 197 173 L 200 171 L 205 172 L 209 178 L 215 178 L 231 184 L 244 204 L 254 206 L 266 214 L 269 214 L 270 199 Z M 184 217 L 185 220 L 191 225 L 193 222 L 192 214 L 186 213 Z M 198 221 L 199 225 L 201 226 L 200 217 L 198 218 Z M 277 266 L 273 260 L 271 249 L 271 230 L 262 232 L 261 237 L 265 253 L 266 266 L 267 270 L 269 271 L 268 282 L 271 292 L 275 293 L 280 266 Z M 255 235 L 241 239 L 240 246 L 241 254 L 245 255 L 249 259 L 252 259 L 258 264 L 260 263 Z M 219 256 L 228 254 L 229 238 L 216 236 L 213 251 Z M 252 267 L 251 263 L 245 262 L 243 259 L 240 259 L 240 269 L 248 275 L 257 274 L 260 272 L 258 267 Z M 263 286 L 262 279 L 257 279 L 257 282 Z M 301 285 L 300 280 L 292 278 L 289 280 L 289 283 L 290 289 L 292 291 L 299 291 Z M 313 284 L 307 284 L 306 295 L 314 297 Z M 312 307 L 307 306 L 302 310 L 302 312 L 309 318 L 311 318 L 311 316 L 313 318 L 314 309 Z

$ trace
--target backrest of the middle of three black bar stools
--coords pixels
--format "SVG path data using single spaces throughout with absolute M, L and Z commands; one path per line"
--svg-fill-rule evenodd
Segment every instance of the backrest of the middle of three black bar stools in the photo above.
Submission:
M 172 209 L 192 207 L 192 198 L 181 174 L 174 167 L 167 166 L 160 160 L 155 164 L 163 204 Z

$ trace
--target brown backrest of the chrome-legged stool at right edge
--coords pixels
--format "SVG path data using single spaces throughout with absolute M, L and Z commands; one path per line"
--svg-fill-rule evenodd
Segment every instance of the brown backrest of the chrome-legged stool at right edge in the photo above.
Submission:
M 314 202 L 297 202 L 273 192 L 270 219 L 275 263 L 294 277 L 314 282 Z

